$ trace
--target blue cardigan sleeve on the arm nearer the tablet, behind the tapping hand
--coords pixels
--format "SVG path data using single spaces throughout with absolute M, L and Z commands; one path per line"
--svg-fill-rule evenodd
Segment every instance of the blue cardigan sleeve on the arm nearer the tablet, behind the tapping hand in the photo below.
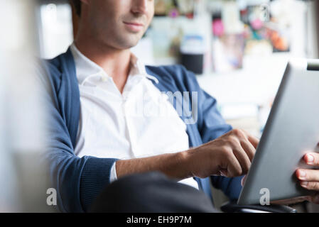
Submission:
M 198 130 L 202 138 L 202 143 L 210 142 L 232 130 L 217 109 L 217 101 L 200 88 L 195 74 L 186 72 L 188 87 L 192 91 L 198 91 Z M 225 89 L 227 85 L 225 84 Z M 210 177 L 212 186 L 221 189 L 229 199 L 238 199 L 242 190 L 242 177 Z

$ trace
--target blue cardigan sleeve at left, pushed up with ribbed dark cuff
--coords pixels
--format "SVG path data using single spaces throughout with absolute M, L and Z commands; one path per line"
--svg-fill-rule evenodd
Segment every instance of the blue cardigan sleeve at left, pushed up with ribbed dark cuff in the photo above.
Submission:
M 59 95 L 63 88 L 58 70 L 43 62 L 38 67 L 37 76 L 43 93 L 41 101 L 47 114 L 47 149 L 43 161 L 48 165 L 51 186 L 57 190 L 58 209 L 62 212 L 87 211 L 109 184 L 111 168 L 117 160 L 90 156 L 80 158 L 74 154 L 60 103 Z

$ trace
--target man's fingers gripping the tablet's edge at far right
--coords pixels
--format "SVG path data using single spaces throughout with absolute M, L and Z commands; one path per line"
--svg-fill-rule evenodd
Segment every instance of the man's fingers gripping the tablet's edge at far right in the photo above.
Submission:
M 303 160 L 310 167 L 319 167 L 319 153 L 308 153 L 303 156 Z M 319 204 L 319 170 L 298 169 L 296 177 L 300 180 L 301 187 L 317 192 L 313 196 L 308 196 L 307 200 Z

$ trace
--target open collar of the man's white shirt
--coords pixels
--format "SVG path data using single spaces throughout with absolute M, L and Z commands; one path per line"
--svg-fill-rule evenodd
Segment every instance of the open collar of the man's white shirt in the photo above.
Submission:
M 75 43 L 72 43 L 70 50 L 75 60 L 75 69 L 77 73 L 77 82 L 83 84 L 89 77 L 97 77 L 99 79 L 107 79 L 109 75 L 97 63 L 90 60 L 77 49 Z M 158 84 L 158 79 L 146 72 L 145 65 L 133 53 L 131 53 L 131 72 L 130 76 L 142 75 L 148 79 L 152 79 Z

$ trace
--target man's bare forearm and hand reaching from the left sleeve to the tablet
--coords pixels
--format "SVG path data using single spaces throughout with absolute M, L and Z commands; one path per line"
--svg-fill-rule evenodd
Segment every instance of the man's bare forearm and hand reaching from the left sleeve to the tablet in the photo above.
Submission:
M 247 174 L 259 140 L 234 129 L 209 143 L 179 153 L 118 160 L 117 177 L 133 173 L 161 171 L 173 179 Z

